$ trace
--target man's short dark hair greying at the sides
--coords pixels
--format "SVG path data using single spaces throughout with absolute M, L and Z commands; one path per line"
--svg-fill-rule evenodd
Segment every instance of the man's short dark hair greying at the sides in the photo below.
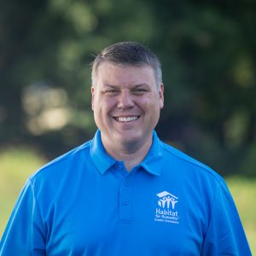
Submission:
M 136 42 L 120 42 L 112 44 L 96 55 L 91 63 L 91 82 L 96 86 L 96 76 L 102 62 L 109 61 L 117 65 L 144 67 L 150 66 L 154 69 L 157 87 L 162 83 L 162 71 L 160 61 L 150 49 Z

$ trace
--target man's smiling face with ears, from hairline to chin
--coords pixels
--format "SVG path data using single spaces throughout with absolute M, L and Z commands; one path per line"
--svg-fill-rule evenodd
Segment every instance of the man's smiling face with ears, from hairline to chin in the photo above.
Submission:
M 163 90 L 163 84 L 157 88 L 152 67 L 103 62 L 91 94 L 94 118 L 102 131 L 104 146 L 142 147 L 151 142 L 164 105 Z

